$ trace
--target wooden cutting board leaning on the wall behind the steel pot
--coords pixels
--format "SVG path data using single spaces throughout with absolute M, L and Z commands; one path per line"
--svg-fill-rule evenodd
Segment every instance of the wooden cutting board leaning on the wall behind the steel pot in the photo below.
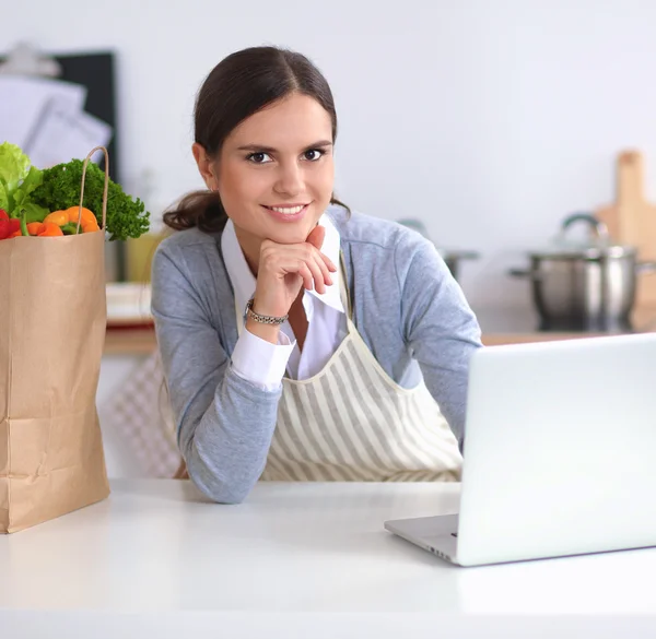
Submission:
M 616 202 L 596 211 L 616 244 L 637 247 L 639 261 L 656 261 L 656 205 L 645 199 L 644 158 L 624 151 L 617 159 Z M 641 273 L 634 309 L 656 307 L 656 273 Z

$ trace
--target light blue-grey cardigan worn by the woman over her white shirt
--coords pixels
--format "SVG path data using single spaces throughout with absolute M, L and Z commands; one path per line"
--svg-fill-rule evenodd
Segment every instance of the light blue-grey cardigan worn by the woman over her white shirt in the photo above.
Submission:
M 478 321 L 432 242 L 395 222 L 331 205 L 353 321 L 380 366 L 413 388 L 423 376 L 462 445 L 469 359 Z M 152 313 L 180 452 L 195 484 L 243 501 L 266 461 L 282 394 L 234 372 L 234 294 L 221 234 L 191 228 L 164 239 L 152 263 Z

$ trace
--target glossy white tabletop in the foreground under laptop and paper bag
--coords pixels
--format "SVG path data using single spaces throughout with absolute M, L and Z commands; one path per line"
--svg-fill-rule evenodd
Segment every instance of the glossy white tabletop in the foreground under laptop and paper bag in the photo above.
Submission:
M 189 482 L 116 480 L 0 535 L 0 637 L 656 636 L 656 551 L 458 568 L 383 528 L 456 512 L 458 495 L 260 483 L 222 506 Z

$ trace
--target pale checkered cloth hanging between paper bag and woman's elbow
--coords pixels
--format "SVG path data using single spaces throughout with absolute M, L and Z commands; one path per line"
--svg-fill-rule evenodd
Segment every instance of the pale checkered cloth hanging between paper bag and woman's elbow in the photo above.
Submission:
M 159 352 L 103 402 L 103 428 L 118 433 L 144 477 L 173 477 L 181 461 Z

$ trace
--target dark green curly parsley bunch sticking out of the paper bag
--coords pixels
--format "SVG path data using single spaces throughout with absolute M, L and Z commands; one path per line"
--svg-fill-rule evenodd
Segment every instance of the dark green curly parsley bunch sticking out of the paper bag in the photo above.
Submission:
M 43 184 L 32 193 L 32 202 L 49 211 L 77 206 L 80 202 L 83 165 L 81 159 L 72 159 L 44 169 Z M 104 187 L 105 173 L 90 162 L 86 165 L 83 206 L 93 211 L 98 224 L 103 223 Z M 106 230 L 110 240 L 140 237 L 149 229 L 149 217 L 150 213 L 139 198 L 133 200 L 119 185 L 109 180 Z

